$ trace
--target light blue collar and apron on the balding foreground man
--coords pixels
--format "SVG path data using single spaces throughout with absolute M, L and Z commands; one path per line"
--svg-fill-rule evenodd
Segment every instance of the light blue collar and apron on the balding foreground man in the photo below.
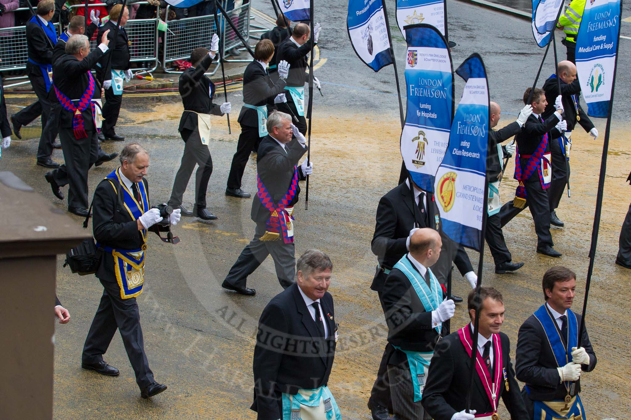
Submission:
M 440 302 L 442 302 L 442 288 L 433 275 L 432 270 L 427 269 L 427 274 L 430 276 L 430 285 L 432 286 L 430 288 L 418 271 L 412 266 L 411 261 L 408 259 L 408 254 L 405 254 L 403 258 L 399 259 L 399 262 L 394 264 L 394 268 L 401 270 L 408 280 L 410 280 L 416 295 L 418 295 L 418 298 L 421 300 L 427 312 L 432 312 L 432 310 L 436 310 L 439 307 Z M 434 327 L 434 329 L 440 335 L 442 324 Z M 433 351 L 409 351 L 403 350 L 398 346 L 393 347 L 403 351 L 403 353 L 408 356 L 408 365 L 410 365 L 412 387 L 414 389 L 414 401 L 418 402 L 423 398 L 425 378 L 427 378 L 427 370 L 432 360 Z

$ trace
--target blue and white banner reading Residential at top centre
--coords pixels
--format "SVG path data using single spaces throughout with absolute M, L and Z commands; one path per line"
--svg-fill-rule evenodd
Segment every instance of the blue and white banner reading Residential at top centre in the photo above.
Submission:
M 388 27 L 381 0 L 348 0 L 346 29 L 355 54 L 368 67 L 379 71 L 392 64 Z

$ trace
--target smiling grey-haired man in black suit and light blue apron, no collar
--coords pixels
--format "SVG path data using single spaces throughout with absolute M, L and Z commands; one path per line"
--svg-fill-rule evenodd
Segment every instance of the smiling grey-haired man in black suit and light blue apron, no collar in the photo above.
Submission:
M 327 387 L 338 341 L 327 292 L 333 264 L 322 251 L 308 249 L 297 270 L 297 282 L 276 295 L 259 319 L 250 408 L 259 420 L 341 420 Z

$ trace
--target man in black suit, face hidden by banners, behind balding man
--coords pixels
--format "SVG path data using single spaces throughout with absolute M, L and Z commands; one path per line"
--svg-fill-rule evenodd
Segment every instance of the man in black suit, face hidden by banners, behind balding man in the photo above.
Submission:
M 433 264 L 432 271 L 439 283 L 447 282 L 451 275 L 451 262 L 454 261 L 460 273 L 475 285 L 478 280 L 473 272 L 469 256 L 463 247 L 457 246 L 448 237 L 442 234 L 440 225 L 440 212 L 432 193 L 427 193 L 419 188 L 413 181 L 413 190 L 410 188 L 410 179 L 392 188 L 379 200 L 377 215 L 375 217 L 375 233 L 372 237 L 372 253 L 377 256 L 379 265 L 376 268 L 374 279 L 370 288 L 379 294 L 379 302 L 384 309 L 382 300 L 382 288 L 386 276 L 394 267 L 394 264 L 410 250 L 410 238 L 418 228 L 430 227 L 440 232 L 442 236 L 442 252 L 438 263 Z M 462 302 L 457 296 L 450 297 L 454 302 Z M 384 309 L 384 314 L 386 310 Z M 370 392 L 368 407 L 374 420 L 384 420 L 388 417 L 388 409 L 392 407 L 390 386 L 388 384 L 387 361 L 390 358 L 391 348 L 386 350 L 381 358 L 377 378 Z

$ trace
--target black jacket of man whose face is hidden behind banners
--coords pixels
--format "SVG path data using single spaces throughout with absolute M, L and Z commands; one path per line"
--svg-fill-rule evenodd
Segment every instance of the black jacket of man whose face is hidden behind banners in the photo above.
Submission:
M 442 237 L 443 249 L 447 246 L 457 247 L 454 262 L 458 270 L 463 275 L 473 271 L 469 257 L 463 247 L 457 246 L 442 233 L 440 212 L 436 202 L 433 200 L 432 193 L 427 193 L 427 206 L 429 225 L 425 225 L 425 219 L 414 202 L 414 195 L 406 183 L 399 184 L 381 197 L 375 217 L 375 233 L 371 242 L 372 253 L 377 256 L 379 265 L 391 270 L 394 264 L 408 252 L 405 245 L 408 236 L 410 236 L 410 230 L 415 227 L 415 222 L 418 221 L 418 227 L 436 229 L 435 221 L 438 220 L 438 230 Z M 447 253 L 444 255 L 446 256 Z M 442 262 L 442 260 L 440 261 Z M 375 292 L 380 292 L 384 281 L 386 281 L 386 275 L 379 270 L 375 273 L 375 278 L 370 288 L 375 290 Z

